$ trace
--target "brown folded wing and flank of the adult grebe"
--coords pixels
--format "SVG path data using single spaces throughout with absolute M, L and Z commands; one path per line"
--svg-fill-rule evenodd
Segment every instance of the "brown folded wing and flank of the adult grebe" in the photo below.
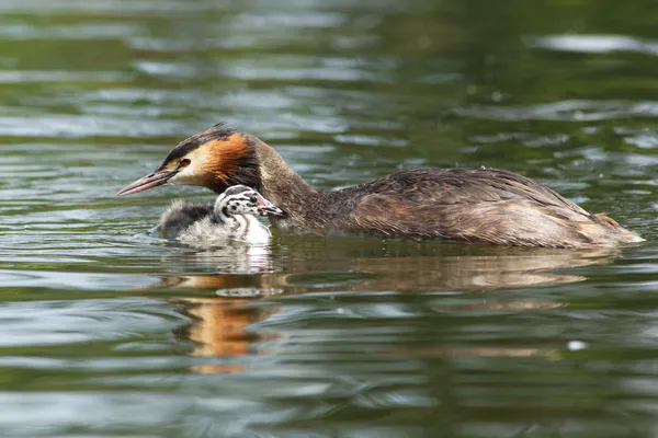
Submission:
M 355 230 L 518 245 L 593 243 L 579 230 L 591 215 L 510 172 L 418 170 L 360 187 L 367 194 L 353 205 Z

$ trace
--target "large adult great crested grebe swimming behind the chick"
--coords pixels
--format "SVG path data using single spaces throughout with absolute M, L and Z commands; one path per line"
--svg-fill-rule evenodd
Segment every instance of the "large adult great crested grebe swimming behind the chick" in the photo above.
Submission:
M 318 192 L 269 145 L 216 125 L 179 143 L 150 173 L 121 189 L 162 184 L 222 193 L 254 187 L 286 212 L 272 224 L 299 234 L 368 234 L 546 247 L 613 246 L 643 239 L 527 177 L 489 169 L 417 169 Z

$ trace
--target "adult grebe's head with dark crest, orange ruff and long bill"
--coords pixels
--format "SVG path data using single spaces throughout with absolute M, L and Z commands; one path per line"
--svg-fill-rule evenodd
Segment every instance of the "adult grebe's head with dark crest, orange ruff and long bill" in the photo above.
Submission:
M 259 175 L 251 140 L 218 124 L 181 141 L 152 173 L 128 184 L 116 196 L 162 184 L 197 185 L 222 193 L 235 184 L 258 187 Z

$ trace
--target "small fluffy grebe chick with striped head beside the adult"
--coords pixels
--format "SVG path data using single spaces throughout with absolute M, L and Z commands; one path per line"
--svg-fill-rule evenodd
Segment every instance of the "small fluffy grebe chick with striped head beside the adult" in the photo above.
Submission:
M 257 191 L 234 185 L 217 196 L 215 205 L 193 205 L 174 201 L 160 219 L 160 230 L 167 239 L 193 246 L 213 246 L 228 241 L 265 244 L 270 229 L 256 216 L 284 216 Z

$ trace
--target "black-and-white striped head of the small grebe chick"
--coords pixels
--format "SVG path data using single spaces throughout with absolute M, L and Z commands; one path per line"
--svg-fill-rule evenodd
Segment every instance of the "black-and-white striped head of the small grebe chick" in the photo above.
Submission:
M 237 215 L 285 216 L 285 212 L 253 188 L 243 185 L 228 187 L 217 196 L 215 214 L 223 219 Z

